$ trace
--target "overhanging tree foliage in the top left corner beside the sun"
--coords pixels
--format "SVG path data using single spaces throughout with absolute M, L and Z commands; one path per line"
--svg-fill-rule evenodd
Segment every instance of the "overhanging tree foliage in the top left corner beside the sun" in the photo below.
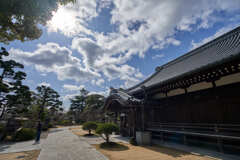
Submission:
M 70 2 L 75 0 L 1 0 L 0 42 L 39 38 L 40 25 L 46 25 L 59 5 Z

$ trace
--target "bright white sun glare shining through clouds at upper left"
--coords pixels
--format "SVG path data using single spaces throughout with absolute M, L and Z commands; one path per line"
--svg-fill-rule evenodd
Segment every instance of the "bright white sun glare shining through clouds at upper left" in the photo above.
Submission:
M 76 25 L 76 16 L 71 11 L 60 7 L 53 13 L 49 26 L 53 30 L 71 30 Z

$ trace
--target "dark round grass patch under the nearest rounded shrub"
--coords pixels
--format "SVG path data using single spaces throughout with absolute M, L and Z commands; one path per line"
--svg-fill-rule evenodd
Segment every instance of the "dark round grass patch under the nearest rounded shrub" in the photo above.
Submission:
M 101 143 L 99 148 L 109 150 L 109 151 L 125 151 L 128 150 L 128 146 L 125 146 L 121 143 L 109 142 L 109 143 Z

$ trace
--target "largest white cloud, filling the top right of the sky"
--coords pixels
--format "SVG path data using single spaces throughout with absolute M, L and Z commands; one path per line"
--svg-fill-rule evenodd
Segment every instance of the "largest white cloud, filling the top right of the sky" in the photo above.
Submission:
M 214 12 L 240 9 L 240 1 L 234 0 L 115 0 L 113 3 L 111 21 L 119 24 L 119 33 L 98 37 L 103 39 L 100 46 L 139 56 L 144 56 L 149 48 L 180 45 L 181 42 L 174 38 L 176 32 L 191 31 L 194 25 L 210 27 L 218 20 Z

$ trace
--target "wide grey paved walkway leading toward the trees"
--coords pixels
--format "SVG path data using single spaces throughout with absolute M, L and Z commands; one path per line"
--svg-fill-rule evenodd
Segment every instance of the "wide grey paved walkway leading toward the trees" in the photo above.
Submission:
M 68 128 L 51 130 L 41 149 L 38 160 L 108 160 Z

